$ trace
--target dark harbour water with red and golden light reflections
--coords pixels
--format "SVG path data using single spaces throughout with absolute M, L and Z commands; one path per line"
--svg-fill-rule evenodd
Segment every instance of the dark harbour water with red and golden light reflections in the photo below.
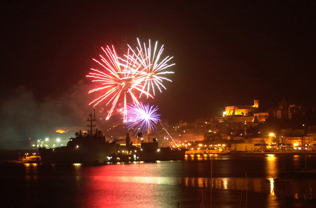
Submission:
M 272 180 L 283 164 L 290 183 Z M 316 169 L 316 155 L 307 155 L 306 164 Z M 296 154 L 188 155 L 117 165 L 2 163 L 0 207 L 315 208 L 316 173 L 292 171 L 304 167 L 304 155 Z

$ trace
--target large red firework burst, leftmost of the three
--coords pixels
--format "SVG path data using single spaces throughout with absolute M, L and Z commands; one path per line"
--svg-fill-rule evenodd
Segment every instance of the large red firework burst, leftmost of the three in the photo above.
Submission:
M 92 82 L 101 82 L 100 87 L 90 90 L 88 93 L 93 93 L 100 91 L 103 93 L 100 97 L 92 101 L 90 104 L 93 104 L 93 106 L 96 106 L 100 102 L 107 100 L 107 104 L 111 104 L 111 109 L 106 117 L 106 120 L 109 120 L 111 115 L 113 114 L 113 111 L 118 104 L 118 100 L 120 97 L 123 97 L 123 121 L 126 122 L 127 120 L 127 101 L 126 101 L 126 94 L 128 93 L 130 95 L 130 98 L 132 102 L 135 105 L 139 105 L 139 101 L 134 95 L 136 91 L 139 91 L 140 93 L 144 93 L 147 95 L 147 97 L 153 97 L 146 91 L 144 91 L 142 88 L 140 88 L 138 85 L 134 84 L 135 80 L 135 73 L 129 71 L 126 69 L 126 67 L 130 67 L 133 65 L 133 62 L 129 59 L 127 59 L 126 64 L 122 65 L 119 62 L 119 58 L 117 56 L 117 53 L 112 46 L 112 50 L 109 46 L 107 46 L 105 49 L 102 48 L 103 52 L 106 54 L 106 58 L 100 55 L 101 61 L 98 61 L 96 59 L 93 59 L 96 63 L 98 63 L 101 68 L 104 70 L 97 70 L 97 69 L 91 69 L 93 72 L 90 72 L 89 75 L 86 75 L 86 77 L 94 78 Z M 90 105 L 89 104 L 89 105 Z

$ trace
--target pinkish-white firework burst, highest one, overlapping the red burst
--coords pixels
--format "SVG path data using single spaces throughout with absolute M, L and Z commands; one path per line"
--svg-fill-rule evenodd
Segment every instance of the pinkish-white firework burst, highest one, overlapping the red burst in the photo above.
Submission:
M 155 96 L 155 86 L 158 88 L 158 90 L 161 92 L 161 87 L 163 89 L 166 89 L 164 85 L 162 84 L 163 80 L 167 80 L 172 82 L 170 79 L 164 77 L 164 74 L 168 73 L 174 73 L 173 71 L 163 71 L 164 69 L 171 67 L 175 64 L 168 64 L 168 62 L 173 57 L 165 57 L 160 62 L 160 56 L 163 52 L 163 45 L 160 47 L 157 55 L 157 46 L 158 41 L 156 41 L 155 48 L 152 51 L 151 48 L 151 41 L 149 40 L 148 47 L 146 46 L 146 43 L 144 42 L 144 45 L 140 43 L 139 39 L 137 38 L 138 46 L 136 47 L 137 51 L 135 52 L 131 46 L 128 45 L 129 49 L 132 51 L 132 54 L 125 57 L 128 60 L 132 60 L 134 62 L 133 68 L 130 68 L 130 71 L 133 71 L 133 73 L 137 74 L 137 79 L 135 80 L 135 83 L 133 87 L 136 86 L 142 86 L 142 91 L 147 92 L 147 98 L 150 94 L 150 91 L 153 91 L 153 94 Z M 141 97 L 142 93 L 140 94 Z

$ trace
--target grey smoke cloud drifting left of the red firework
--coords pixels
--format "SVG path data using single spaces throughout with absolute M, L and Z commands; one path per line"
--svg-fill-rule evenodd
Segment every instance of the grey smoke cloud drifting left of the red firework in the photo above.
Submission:
M 93 113 L 93 107 L 88 105 L 93 96 L 87 94 L 90 88 L 81 80 L 62 95 L 39 102 L 32 91 L 25 86 L 18 87 L 11 97 L 1 102 L 0 149 L 29 148 L 30 138 L 50 137 L 54 127 L 86 127 L 85 120 Z M 104 116 L 98 108 L 96 114 Z

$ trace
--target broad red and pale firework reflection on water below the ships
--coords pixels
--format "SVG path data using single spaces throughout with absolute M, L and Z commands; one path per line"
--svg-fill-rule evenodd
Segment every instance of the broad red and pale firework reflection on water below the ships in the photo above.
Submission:
M 140 166 L 143 165 L 138 165 L 136 170 L 140 169 Z M 154 172 L 147 172 L 148 176 L 136 176 L 133 173 L 129 175 L 129 172 L 124 170 L 128 170 L 131 166 L 127 168 L 126 166 L 110 167 L 110 170 L 108 169 L 110 172 L 107 173 L 101 171 L 107 170 L 107 168 L 95 168 L 95 172 L 89 170 L 89 180 L 82 180 L 80 187 L 86 192 L 83 196 L 85 199 L 84 207 L 158 208 L 174 207 L 176 205 L 174 201 L 176 199 L 161 200 L 163 196 L 174 196 L 179 191 L 176 185 L 177 180 L 174 180 L 174 178 L 157 177 Z M 137 173 L 139 173 L 139 170 Z M 177 200 L 180 201 L 180 199 Z

